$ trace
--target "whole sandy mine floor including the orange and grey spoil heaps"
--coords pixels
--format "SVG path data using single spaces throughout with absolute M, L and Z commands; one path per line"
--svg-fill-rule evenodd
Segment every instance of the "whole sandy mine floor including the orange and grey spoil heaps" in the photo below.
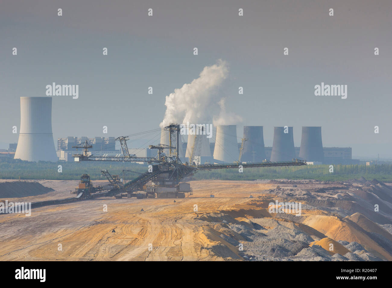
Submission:
M 297 251 L 293 255 L 298 253 L 304 257 L 303 255 L 306 254 L 307 259 L 319 260 L 319 254 L 324 252 L 327 254 L 327 256 L 322 256 L 324 258 L 334 254 L 324 250 L 330 243 L 334 243 L 339 248 L 337 251 L 343 254 L 347 249 L 336 243 L 348 241 L 345 245 L 350 243 L 353 246 L 358 242 L 377 257 L 392 260 L 392 250 L 388 248 L 392 243 L 391 232 L 387 232 L 358 213 L 364 212 L 366 205 L 371 203 L 361 202 L 362 198 L 358 197 L 350 201 L 345 200 L 348 196 L 354 195 L 353 193 L 357 191 L 355 187 L 347 190 L 342 183 L 298 183 L 294 188 L 292 184 L 266 182 L 191 181 L 193 195 L 185 199 L 102 197 L 34 208 L 30 217 L 22 214 L 1 215 L 0 261 L 222 261 L 244 260 L 246 255 L 257 257 L 258 260 L 263 260 L 263 255 L 270 257 L 267 259 L 279 260 L 285 256 L 277 255 L 276 247 L 281 245 L 280 241 L 288 243 L 283 240 L 285 237 L 290 241 L 294 238 L 305 237 L 307 240 L 303 238 L 303 241 L 313 246 L 309 247 L 309 250 L 305 244 L 304 252 L 298 253 Z M 8 200 L 33 202 L 72 197 L 74 195 L 70 194 L 70 190 L 74 190 L 78 181 L 43 180 L 40 183 L 53 188 L 54 191 L 23 199 Z M 106 181 L 93 181 L 93 184 L 104 185 Z M 280 188 L 277 188 L 278 185 Z M 331 192 L 312 191 L 328 187 L 332 189 Z M 275 190 L 274 193 L 272 193 L 273 190 Z M 307 199 L 307 201 L 312 201 L 313 205 L 318 203 L 320 207 L 309 210 L 305 205 L 302 216 L 294 218 L 290 218 L 287 214 L 269 214 L 268 203 L 272 199 L 277 199 L 276 195 L 280 195 L 281 191 L 294 194 L 297 191 L 299 192 L 296 194 L 298 199 Z M 300 198 L 303 193 L 311 193 L 314 197 Z M 210 194 L 215 197 L 210 198 Z M 250 198 L 250 195 L 253 198 Z M 342 196 L 342 200 L 338 201 L 336 196 L 339 195 L 344 197 Z M 294 196 L 279 196 L 278 198 L 284 200 L 291 199 L 291 197 Z M 328 208 L 332 203 L 328 201 L 335 201 L 334 199 L 337 201 L 334 206 L 342 206 L 346 210 Z M 365 206 L 352 206 L 351 201 L 364 203 Z M 392 204 L 388 205 L 392 209 Z M 107 212 L 104 211 L 105 206 L 107 206 Z M 142 209 L 144 211 L 141 211 Z M 387 206 L 383 207 L 383 210 L 386 209 L 388 209 Z M 383 212 L 383 215 L 388 216 L 388 213 Z M 377 217 L 379 218 L 376 219 L 387 219 L 380 218 L 378 214 Z M 392 223 L 388 219 L 385 221 Z M 228 229 L 229 226 L 225 223 L 232 223 L 231 228 Z M 261 225 L 259 228 L 264 230 L 255 231 L 252 223 Z M 253 236 L 243 230 L 246 227 L 250 229 L 248 232 Z M 287 227 L 289 230 L 286 231 Z M 299 235 L 298 229 L 309 237 L 305 234 Z M 376 239 L 373 232 L 381 236 L 377 236 L 379 238 Z M 290 233 L 294 234 L 290 236 Z M 253 237 L 253 240 L 247 240 L 248 236 Z M 234 244 L 230 244 L 225 239 Z M 239 252 L 236 243 L 243 243 L 248 250 L 246 255 Z M 269 245 L 274 246 L 270 249 Z M 313 247 L 316 248 L 313 249 Z M 297 249 L 290 245 L 287 248 L 292 248 L 293 251 Z M 318 252 L 317 249 L 324 252 Z M 370 254 L 365 255 L 365 251 L 356 253 L 361 253 L 358 255 L 362 259 L 373 257 Z M 346 256 L 348 259 L 358 258 L 353 254 Z

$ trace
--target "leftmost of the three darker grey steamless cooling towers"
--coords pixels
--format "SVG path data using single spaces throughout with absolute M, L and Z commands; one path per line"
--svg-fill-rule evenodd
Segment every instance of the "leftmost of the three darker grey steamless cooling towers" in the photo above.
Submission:
M 243 138 L 248 140 L 244 143 L 241 161 L 263 161 L 265 159 L 263 126 L 244 126 L 243 135 Z

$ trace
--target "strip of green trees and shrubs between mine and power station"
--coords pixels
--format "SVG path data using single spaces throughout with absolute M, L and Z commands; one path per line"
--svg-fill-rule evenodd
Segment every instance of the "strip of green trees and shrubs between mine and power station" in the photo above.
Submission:
M 62 172 L 58 172 L 62 165 Z M 115 162 L 28 162 L 19 159 L 0 159 L 0 179 L 51 179 L 79 180 L 87 173 L 93 180 L 105 179 L 100 170 L 107 169 L 110 174 L 120 174 L 122 170 L 144 173 L 147 165 L 137 163 Z M 392 182 L 392 165 L 334 165 L 334 172 L 329 172 L 329 165 L 307 165 L 298 167 L 262 167 L 238 169 L 217 169 L 199 171 L 194 179 L 221 180 L 256 180 L 256 179 L 317 179 L 321 181 L 343 181 L 352 178 L 376 178 L 383 182 Z M 130 173 L 131 178 L 140 174 Z

